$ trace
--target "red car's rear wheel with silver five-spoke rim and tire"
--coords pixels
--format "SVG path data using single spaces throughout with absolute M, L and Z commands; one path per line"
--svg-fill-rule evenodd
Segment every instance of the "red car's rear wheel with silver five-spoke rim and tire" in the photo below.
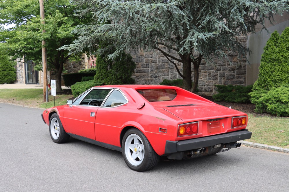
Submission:
M 122 152 L 125 163 L 135 171 L 152 169 L 159 160 L 146 136 L 138 129 L 129 129 L 122 141 Z

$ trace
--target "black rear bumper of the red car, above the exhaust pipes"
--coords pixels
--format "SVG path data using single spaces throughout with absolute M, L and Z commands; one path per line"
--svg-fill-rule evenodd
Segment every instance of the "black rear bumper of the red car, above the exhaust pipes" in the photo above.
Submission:
M 164 155 L 204 148 L 208 146 L 214 146 L 216 144 L 226 144 L 244 139 L 250 139 L 251 136 L 252 132 L 248 131 L 247 129 L 244 129 L 241 131 L 234 131 L 224 133 L 221 135 L 213 135 L 184 141 L 166 141 L 166 148 Z

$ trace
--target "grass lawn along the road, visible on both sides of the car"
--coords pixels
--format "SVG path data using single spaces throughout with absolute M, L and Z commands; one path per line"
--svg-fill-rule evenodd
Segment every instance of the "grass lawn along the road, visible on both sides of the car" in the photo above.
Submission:
M 55 106 L 66 104 L 72 95 L 56 95 Z M 0 89 L 0 100 L 18 105 L 38 108 L 53 107 L 53 96 L 49 102 L 43 101 L 42 89 Z M 254 116 L 248 114 L 247 129 L 251 131 L 249 142 L 289 148 L 289 118 L 274 116 Z

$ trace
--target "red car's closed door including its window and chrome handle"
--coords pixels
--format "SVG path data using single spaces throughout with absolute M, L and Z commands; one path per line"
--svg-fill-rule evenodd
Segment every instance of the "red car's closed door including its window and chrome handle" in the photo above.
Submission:
M 91 89 L 64 110 L 68 133 L 95 140 L 95 116 L 111 89 Z

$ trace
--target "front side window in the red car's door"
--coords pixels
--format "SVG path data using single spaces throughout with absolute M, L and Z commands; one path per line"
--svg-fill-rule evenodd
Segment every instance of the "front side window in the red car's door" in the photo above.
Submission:
M 110 89 L 93 89 L 84 97 L 79 105 L 101 106 L 101 103 L 110 91 Z

